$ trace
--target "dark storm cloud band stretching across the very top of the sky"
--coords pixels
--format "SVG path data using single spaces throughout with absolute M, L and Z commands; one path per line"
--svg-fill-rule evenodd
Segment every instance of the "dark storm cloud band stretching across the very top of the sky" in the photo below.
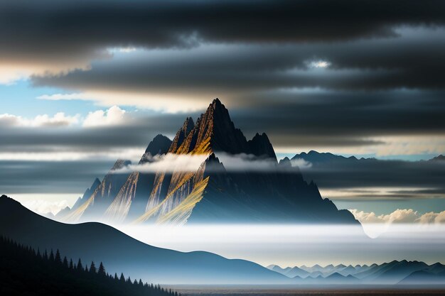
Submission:
M 350 40 L 436 26 L 443 1 L 1 1 L 1 53 L 58 57 L 110 46 Z

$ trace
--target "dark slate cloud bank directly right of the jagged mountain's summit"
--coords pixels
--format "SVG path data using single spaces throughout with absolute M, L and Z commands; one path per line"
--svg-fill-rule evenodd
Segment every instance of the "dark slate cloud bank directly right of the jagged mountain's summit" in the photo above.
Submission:
M 231 111 L 247 135 L 266 132 L 274 146 L 365 146 L 373 136 L 443 135 L 444 92 L 314 92 L 256 97 Z M 272 102 L 271 102 L 272 101 Z

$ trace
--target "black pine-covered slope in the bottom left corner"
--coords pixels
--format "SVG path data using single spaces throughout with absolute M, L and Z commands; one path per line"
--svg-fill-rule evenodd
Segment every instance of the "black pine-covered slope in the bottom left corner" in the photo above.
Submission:
M 41 252 L 0 236 L 0 295 L 178 296 L 142 280 L 109 275 L 102 262 L 73 262 L 50 250 Z

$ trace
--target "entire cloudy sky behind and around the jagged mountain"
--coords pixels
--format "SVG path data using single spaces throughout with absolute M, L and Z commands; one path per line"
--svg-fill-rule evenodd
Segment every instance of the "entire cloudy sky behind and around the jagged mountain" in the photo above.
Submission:
M 444 1 L 0 0 L 0 38 L 1 193 L 72 204 L 219 97 L 280 158 L 399 160 L 321 180 L 343 208 L 445 209 L 444 165 L 405 164 L 445 153 Z

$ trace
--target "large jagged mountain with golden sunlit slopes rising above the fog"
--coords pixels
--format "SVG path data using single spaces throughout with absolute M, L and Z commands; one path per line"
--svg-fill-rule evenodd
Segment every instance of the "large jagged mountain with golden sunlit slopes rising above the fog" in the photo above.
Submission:
M 158 149 L 149 150 L 150 146 Z M 159 135 L 149 148 L 139 164 L 167 153 L 178 157 L 203 155 L 205 160 L 194 171 L 175 168 L 153 173 L 132 172 L 96 220 L 358 224 L 350 212 L 339 211 L 330 200 L 323 199 L 316 185 L 305 182 L 289 159 L 278 163 L 265 133 L 257 133 L 247 141 L 219 99 L 195 122 L 188 117 L 173 141 Z M 272 165 L 268 170 L 227 170 L 220 160 L 223 155 L 251 155 Z M 93 207 L 91 202 L 86 204 L 88 207 Z M 85 217 L 80 215 L 77 219 Z

